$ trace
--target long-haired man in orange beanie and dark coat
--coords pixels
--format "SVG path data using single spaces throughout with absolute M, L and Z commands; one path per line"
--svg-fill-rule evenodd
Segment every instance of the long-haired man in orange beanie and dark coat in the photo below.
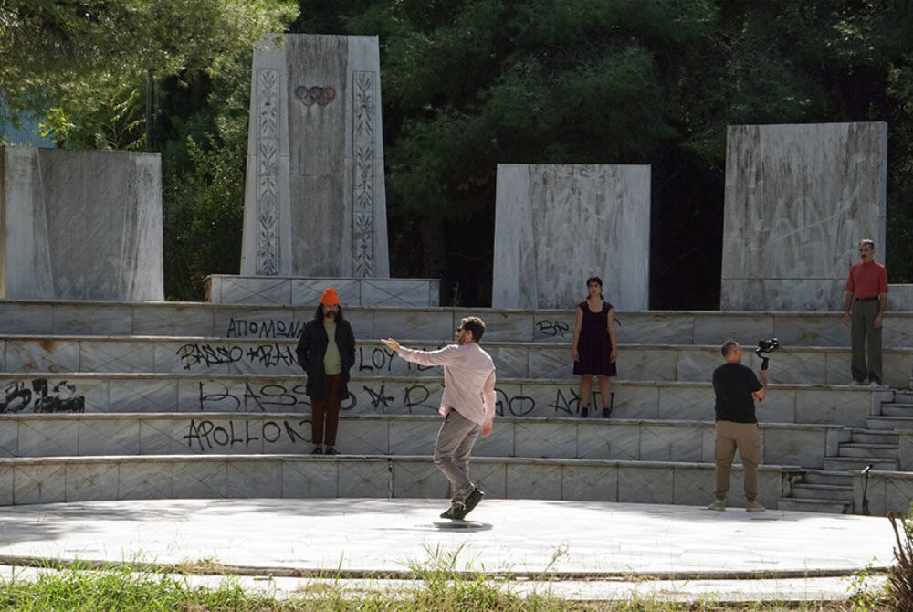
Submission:
M 336 455 L 342 398 L 349 396 L 349 370 L 355 364 L 355 334 L 342 317 L 340 298 L 332 287 L 323 291 L 314 319 L 301 331 L 295 353 L 308 375 L 305 393 L 310 397 L 311 454 Z

